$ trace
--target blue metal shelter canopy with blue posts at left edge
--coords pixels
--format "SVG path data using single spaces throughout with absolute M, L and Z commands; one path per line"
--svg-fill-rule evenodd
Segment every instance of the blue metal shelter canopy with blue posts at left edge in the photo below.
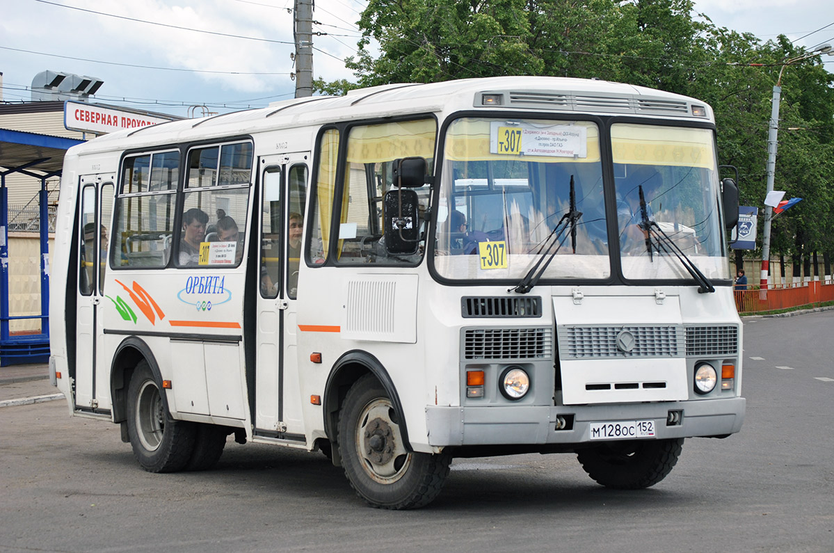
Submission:
M 18 363 L 45 363 L 49 358 L 49 273 L 47 178 L 61 174 L 68 148 L 83 143 L 75 138 L 26 133 L 0 128 L 0 366 Z M 9 316 L 8 287 L 8 189 L 6 177 L 20 173 L 41 181 L 40 204 L 40 283 L 41 314 Z M 39 334 L 9 332 L 13 319 L 41 319 Z

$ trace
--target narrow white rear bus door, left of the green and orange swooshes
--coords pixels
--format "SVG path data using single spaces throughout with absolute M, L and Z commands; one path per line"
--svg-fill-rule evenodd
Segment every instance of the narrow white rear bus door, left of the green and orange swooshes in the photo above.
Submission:
M 106 182 L 105 182 L 106 181 Z M 113 175 L 81 177 L 78 206 L 78 290 L 76 294 L 75 408 L 109 409 L 109 367 L 102 366 L 104 275 L 108 225 L 113 214 Z

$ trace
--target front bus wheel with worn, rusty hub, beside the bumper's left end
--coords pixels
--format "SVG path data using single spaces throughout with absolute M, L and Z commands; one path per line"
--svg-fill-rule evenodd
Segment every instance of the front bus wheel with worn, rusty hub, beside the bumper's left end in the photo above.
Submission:
M 381 509 L 416 509 L 440 494 L 451 456 L 407 450 L 399 415 L 374 375 L 351 386 L 339 412 L 344 474 L 360 498 Z

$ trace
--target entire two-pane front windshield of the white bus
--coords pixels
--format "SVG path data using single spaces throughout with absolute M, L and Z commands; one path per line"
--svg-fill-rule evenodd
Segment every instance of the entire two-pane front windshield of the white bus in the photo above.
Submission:
M 586 121 L 456 119 L 436 210 L 438 274 L 523 279 L 552 257 L 540 264 L 542 279 L 601 280 L 619 254 L 625 279 L 691 279 L 682 254 L 707 278 L 723 278 L 711 130 L 612 125 L 612 220 L 600 155 L 608 140 Z

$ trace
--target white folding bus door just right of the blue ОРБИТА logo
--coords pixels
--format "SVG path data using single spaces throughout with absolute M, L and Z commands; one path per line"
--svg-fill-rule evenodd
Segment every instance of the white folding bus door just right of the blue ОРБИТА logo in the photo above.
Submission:
M 295 288 L 309 153 L 261 158 L 255 432 L 304 441 Z

